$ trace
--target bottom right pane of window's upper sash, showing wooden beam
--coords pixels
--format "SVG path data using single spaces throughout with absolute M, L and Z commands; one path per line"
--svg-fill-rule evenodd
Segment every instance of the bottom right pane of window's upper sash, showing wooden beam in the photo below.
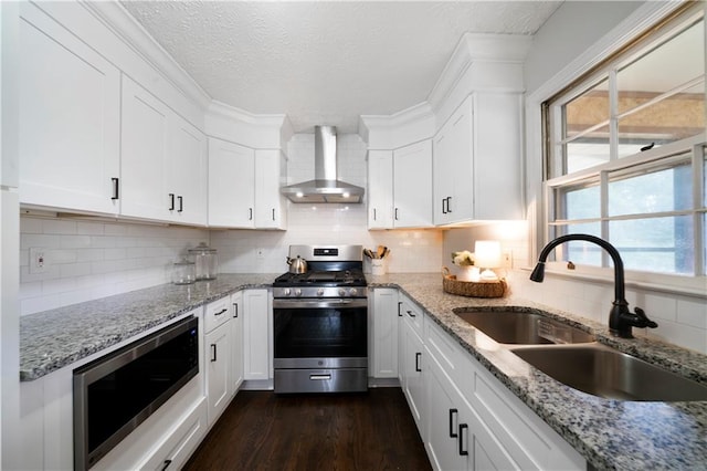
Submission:
M 646 97 L 643 100 L 647 102 Z M 705 83 L 619 119 L 619 157 L 642 147 L 672 143 L 705 130 Z

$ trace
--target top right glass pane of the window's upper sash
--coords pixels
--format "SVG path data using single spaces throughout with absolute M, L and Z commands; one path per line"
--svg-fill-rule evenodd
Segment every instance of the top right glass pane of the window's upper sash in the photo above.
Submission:
M 700 20 L 619 71 L 616 86 L 620 114 L 705 73 L 703 24 Z M 679 115 L 680 112 L 676 107 L 673 113 Z

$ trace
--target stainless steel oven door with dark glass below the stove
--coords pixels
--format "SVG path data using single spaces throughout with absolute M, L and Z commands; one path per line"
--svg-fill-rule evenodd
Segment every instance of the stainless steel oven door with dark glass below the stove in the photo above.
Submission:
M 275 368 L 368 364 L 368 300 L 274 300 Z

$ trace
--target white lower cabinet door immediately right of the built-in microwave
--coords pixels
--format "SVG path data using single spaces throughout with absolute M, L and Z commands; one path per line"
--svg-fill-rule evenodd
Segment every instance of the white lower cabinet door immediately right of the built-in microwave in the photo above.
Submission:
M 231 324 L 225 322 L 204 337 L 209 425 L 219 418 L 231 400 Z

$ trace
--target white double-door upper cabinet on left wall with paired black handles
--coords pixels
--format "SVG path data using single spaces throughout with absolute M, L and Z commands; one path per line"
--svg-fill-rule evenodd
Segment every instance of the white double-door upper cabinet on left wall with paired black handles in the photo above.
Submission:
M 127 76 L 122 121 L 122 214 L 204 224 L 203 134 Z

